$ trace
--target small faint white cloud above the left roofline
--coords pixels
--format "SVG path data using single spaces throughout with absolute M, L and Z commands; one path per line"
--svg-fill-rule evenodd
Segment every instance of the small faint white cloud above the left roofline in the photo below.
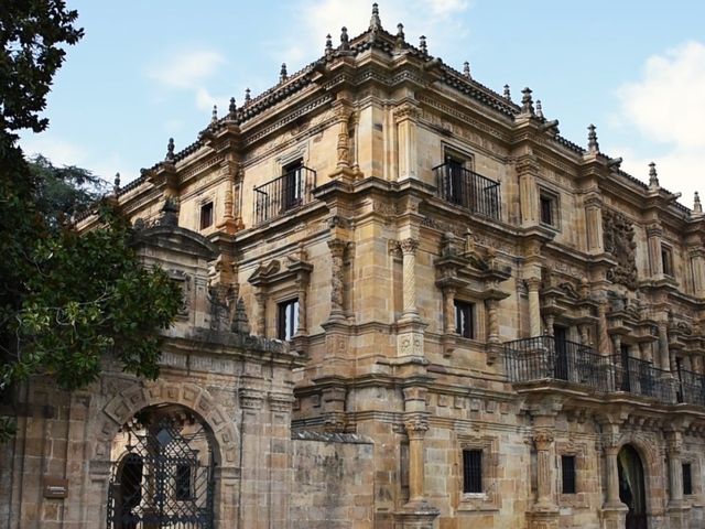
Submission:
M 200 87 L 224 63 L 225 57 L 218 52 L 188 51 L 174 53 L 170 60 L 150 68 L 148 74 L 166 86 L 193 89 Z

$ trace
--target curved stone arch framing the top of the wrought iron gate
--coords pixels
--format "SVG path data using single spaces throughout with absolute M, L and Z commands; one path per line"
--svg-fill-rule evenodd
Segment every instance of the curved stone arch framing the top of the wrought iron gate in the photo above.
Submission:
M 213 396 L 195 384 L 169 382 L 156 380 L 144 385 L 134 385 L 118 392 L 102 408 L 99 430 L 96 440 L 95 457 L 106 460 L 110 456 L 110 444 L 118 430 L 137 412 L 159 404 L 180 404 L 200 417 L 214 439 L 214 456 L 221 466 L 230 466 L 237 462 L 238 443 L 237 427 L 228 420 L 225 412 Z

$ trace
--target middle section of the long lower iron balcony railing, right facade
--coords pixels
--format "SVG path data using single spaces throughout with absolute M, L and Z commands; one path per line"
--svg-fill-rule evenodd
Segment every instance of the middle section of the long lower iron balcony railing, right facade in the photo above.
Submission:
M 674 403 L 675 388 L 669 371 L 633 356 L 614 355 L 615 390 L 652 397 L 660 402 Z

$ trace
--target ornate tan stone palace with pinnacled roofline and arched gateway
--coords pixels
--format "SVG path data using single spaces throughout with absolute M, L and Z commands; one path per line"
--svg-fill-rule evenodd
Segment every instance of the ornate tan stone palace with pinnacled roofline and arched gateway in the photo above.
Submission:
M 375 7 L 170 140 L 116 191 L 184 289 L 162 378 L 28 388 L 0 525 L 703 527 L 702 206 L 557 125 Z

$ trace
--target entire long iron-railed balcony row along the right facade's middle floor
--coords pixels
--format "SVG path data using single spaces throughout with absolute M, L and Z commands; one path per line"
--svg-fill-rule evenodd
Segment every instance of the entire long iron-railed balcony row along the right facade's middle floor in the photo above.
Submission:
M 688 402 L 705 406 L 705 377 L 681 376 L 631 356 L 605 356 L 592 347 L 553 336 L 536 336 L 505 344 L 505 369 L 512 384 L 549 381 L 579 385 L 604 393 L 627 392 L 662 403 Z M 682 371 L 684 373 L 684 371 Z

